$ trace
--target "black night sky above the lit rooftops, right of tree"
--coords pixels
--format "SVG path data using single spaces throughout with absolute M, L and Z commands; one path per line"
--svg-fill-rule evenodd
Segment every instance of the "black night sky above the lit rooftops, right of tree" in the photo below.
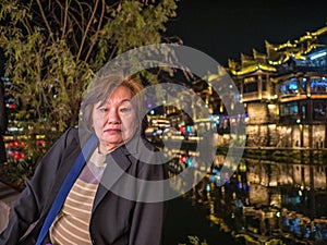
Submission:
M 293 41 L 327 23 L 324 1 L 181 0 L 167 33 L 183 45 L 214 58 L 221 65 L 240 61 L 241 53 L 265 53 L 270 44 Z

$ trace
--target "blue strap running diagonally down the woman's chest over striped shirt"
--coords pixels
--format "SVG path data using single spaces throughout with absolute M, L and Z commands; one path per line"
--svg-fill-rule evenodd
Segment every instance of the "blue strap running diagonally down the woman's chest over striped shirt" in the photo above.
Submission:
M 61 210 L 61 207 L 62 207 L 69 192 L 71 191 L 73 184 L 75 183 L 75 181 L 85 163 L 85 159 L 87 159 L 90 156 L 97 140 L 98 140 L 97 137 L 95 135 L 93 135 L 86 142 L 85 146 L 83 147 L 81 154 L 78 155 L 76 161 L 73 164 L 73 168 L 66 175 L 63 184 L 61 185 L 61 187 L 59 189 L 59 193 L 56 196 L 56 199 L 51 206 L 51 209 L 49 210 L 49 212 L 46 217 L 46 220 L 44 222 L 44 225 L 39 232 L 39 235 L 36 241 L 36 245 L 40 245 L 41 242 L 44 241 L 44 238 L 46 237 L 48 230 L 50 229 L 56 216 Z

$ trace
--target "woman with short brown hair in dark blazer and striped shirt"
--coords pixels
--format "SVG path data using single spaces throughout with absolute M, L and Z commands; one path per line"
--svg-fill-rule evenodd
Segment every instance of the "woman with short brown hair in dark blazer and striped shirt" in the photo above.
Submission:
M 12 209 L 1 245 L 161 244 L 165 203 L 140 201 L 110 188 L 122 179 L 114 166 L 134 180 L 167 179 L 165 164 L 142 161 L 147 158 L 138 146 L 156 151 L 140 134 L 142 100 L 133 97 L 142 89 L 136 79 L 120 75 L 90 87 L 80 128 L 68 130 L 39 162 Z M 122 189 L 136 197 L 130 184 Z

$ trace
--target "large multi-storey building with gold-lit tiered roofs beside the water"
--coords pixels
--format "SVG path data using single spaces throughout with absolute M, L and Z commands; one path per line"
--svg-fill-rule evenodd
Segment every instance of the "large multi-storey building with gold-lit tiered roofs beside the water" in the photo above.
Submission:
M 325 148 L 327 26 L 229 60 L 246 114 L 247 146 Z M 324 39 L 325 38 L 325 39 Z

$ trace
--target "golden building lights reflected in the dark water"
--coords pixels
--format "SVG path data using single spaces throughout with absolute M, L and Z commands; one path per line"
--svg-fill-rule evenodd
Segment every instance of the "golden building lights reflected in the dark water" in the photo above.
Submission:
M 208 210 L 213 225 L 246 244 L 251 240 L 257 244 L 327 244 L 325 164 L 242 159 L 234 174 L 218 186 L 223 160 L 223 155 L 217 155 L 213 167 L 205 169 L 199 156 L 185 150 L 170 164 L 171 174 L 192 168 L 194 187 L 185 197 Z M 183 186 L 180 183 L 175 188 Z

